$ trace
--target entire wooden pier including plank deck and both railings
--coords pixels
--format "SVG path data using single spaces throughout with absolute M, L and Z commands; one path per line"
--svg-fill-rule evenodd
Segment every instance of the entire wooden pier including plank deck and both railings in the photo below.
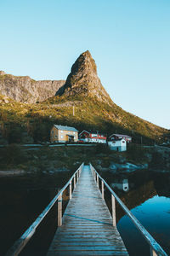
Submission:
M 65 189 L 69 190 L 70 201 L 62 216 L 62 196 Z M 105 189 L 111 193 L 111 213 L 105 204 Z M 8 249 L 5 256 L 20 254 L 36 233 L 39 224 L 56 204 L 58 205 L 58 229 L 48 249 L 48 256 L 128 255 L 122 238 L 116 230 L 116 202 L 149 244 L 150 256 L 167 256 L 167 253 L 133 216 L 94 166 L 91 164 L 84 166 L 83 163 L 31 226 L 14 242 L 13 247 Z

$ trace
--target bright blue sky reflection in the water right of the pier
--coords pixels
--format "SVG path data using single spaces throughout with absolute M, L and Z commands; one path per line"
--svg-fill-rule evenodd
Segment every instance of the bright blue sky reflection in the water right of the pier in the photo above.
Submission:
M 170 198 L 155 195 L 144 201 L 139 207 L 134 207 L 131 212 L 169 255 Z M 120 231 L 130 255 L 150 255 L 146 241 L 127 216 L 123 216 L 119 220 L 117 229 Z

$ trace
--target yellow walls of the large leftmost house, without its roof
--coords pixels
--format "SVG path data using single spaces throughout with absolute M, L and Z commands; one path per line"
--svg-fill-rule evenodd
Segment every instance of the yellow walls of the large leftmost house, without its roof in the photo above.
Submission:
M 77 131 L 63 131 L 63 130 L 58 130 L 56 127 L 53 127 L 50 134 L 51 142 L 66 143 L 69 141 L 68 135 L 74 136 L 74 142 L 77 143 L 78 141 Z

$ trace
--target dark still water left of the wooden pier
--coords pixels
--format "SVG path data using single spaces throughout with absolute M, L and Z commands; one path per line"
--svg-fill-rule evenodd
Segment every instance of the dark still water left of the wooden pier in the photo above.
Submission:
M 55 176 L 0 178 L 0 256 L 14 244 L 37 216 L 48 206 L 71 172 Z M 63 207 L 67 191 L 63 195 Z M 45 256 L 57 226 L 57 206 L 44 218 L 26 249 L 20 255 Z

